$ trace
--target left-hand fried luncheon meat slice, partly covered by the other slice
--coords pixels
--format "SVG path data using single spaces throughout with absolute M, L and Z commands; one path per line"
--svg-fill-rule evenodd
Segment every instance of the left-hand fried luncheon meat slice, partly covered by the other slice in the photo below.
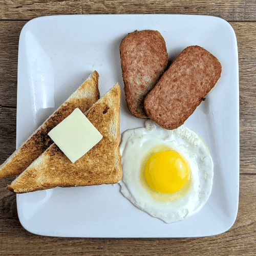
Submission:
M 136 117 L 147 118 L 144 98 L 168 62 L 165 41 L 158 31 L 135 31 L 122 39 L 120 57 L 127 106 Z

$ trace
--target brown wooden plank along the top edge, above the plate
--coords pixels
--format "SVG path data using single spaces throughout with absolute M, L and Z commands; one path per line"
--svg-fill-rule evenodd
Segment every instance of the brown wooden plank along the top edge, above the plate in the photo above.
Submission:
M 203 0 L 17 0 L 1 1 L 0 19 L 32 19 L 54 14 L 199 14 L 212 15 L 226 20 L 256 20 L 255 0 L 203 1 Z

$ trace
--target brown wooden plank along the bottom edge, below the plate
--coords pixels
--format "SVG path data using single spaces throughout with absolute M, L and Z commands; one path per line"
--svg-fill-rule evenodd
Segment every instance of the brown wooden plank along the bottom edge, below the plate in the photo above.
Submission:
M 219 236 L 187 239 L 38 237 L 20 226 L 15 195 L 5 188 L 10 181 L 0 180 L 0 253 L 8 250 L 14 254 L 44 251 L 47 254 L 87 252 L 88 255 L 255 255 L 252 245 L 256 236 L 256 175 L 241 175 L 238 217 L 229 231 Z

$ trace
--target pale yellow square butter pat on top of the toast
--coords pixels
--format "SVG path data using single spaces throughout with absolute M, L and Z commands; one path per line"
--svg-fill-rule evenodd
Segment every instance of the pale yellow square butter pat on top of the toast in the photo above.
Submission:
M 91 150 L 103 137 L 79 109 L 75 109 L 48 135 L 72 163 Z

